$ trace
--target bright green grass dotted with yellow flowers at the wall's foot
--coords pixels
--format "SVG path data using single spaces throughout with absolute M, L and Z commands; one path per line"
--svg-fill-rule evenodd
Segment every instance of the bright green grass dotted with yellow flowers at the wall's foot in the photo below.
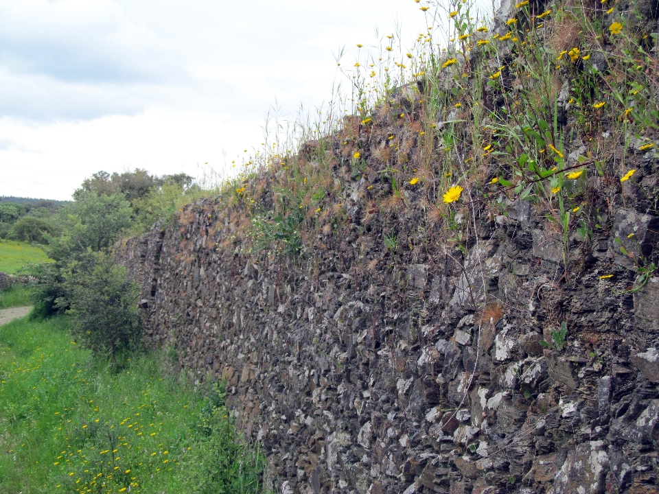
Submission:
M 261 492 L 222 395 L 162 364 L 95 364 L 66 316 L 1 327 L 0 494 Z

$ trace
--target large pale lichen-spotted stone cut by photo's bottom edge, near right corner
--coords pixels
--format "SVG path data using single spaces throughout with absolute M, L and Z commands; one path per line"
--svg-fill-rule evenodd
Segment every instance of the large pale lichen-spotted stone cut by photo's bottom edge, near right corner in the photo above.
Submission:
M 600 494 L 609 467 L 604 441 L 590 441 L 568 451 L 556 474 L 553 494 Z

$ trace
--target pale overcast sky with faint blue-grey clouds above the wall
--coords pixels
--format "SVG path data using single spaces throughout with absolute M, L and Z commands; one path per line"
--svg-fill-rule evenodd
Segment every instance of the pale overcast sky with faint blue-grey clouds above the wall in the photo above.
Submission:
M 334 54 L 427 21 L 413 0 L 2 0 L 0 196 L 69 199 L 100 169 L 221 171 L 268 109 L 327 102 Z M 224 158 L 226 154 L 226 158 Z

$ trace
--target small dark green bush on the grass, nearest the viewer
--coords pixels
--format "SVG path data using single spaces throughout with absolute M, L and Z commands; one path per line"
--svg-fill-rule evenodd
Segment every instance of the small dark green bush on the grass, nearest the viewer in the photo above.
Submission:
M 95 252 L 86 263 L 70 263 L 64 278 L 73 335 L 86 348 L 95 355 L 109 355 L 113 364 L 119 354 L 141 348 L 137 285 L 128 280 L 124 266 Z

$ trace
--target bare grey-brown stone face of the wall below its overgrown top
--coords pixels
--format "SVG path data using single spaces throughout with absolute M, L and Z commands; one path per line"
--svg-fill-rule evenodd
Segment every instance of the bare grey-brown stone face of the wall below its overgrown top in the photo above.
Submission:
M 214 200 L 117 255 L 150 344 L 227 381 L 278 492 L 656 493 L 659 278 L 621 295 L 600 277 L 632 283 L 612 238 L 651 250 L 657 219 L 618 209 L 608 238 L 573 242 L 569 275 L 524 208 L 478 219 L 464 268 L 432 231 L 408 249 L 416 208 L 395 218 L 399 253 L 383 219 L 248 257 L 218 246 L 235 224 Z M 563 320 L 564 349 L 543 346 Z

